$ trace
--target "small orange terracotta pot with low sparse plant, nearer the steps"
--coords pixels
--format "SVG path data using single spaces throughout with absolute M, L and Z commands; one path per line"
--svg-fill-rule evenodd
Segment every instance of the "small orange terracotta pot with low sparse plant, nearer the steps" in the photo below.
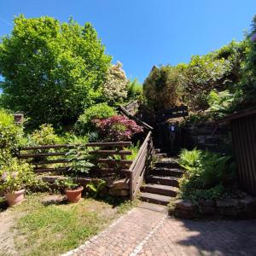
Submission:
M 57 179 L 55 184 L 59 189 L 63 189 L 67 195 L 67 201 L 69 202 L 79 202 L 81 199 L 83 187 L 78 183 L 75 183 L 73 177 L 67 177 L 65 179 Z

